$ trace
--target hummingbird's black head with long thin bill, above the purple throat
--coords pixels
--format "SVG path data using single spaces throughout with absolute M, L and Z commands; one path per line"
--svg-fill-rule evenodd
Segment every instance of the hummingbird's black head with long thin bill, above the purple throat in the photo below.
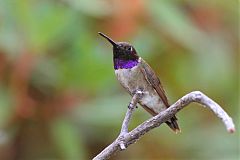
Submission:
M 98 32 L 102 37 L 106 38 L 113 46 L 113 58 L 119 60 L 138 60 L 139 56 L 135 48 L 127 42 L 115 42 L 105 34 Z

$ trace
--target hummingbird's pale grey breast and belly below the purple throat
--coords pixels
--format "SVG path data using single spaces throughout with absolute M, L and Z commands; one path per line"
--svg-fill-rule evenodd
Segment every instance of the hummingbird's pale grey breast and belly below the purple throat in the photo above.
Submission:
M 145 79 L 139 64 L 131 69 L 115 70 L 115 74 L 129 94 L 133 95 L 138 89 L 143 91 L 143 97 L 139 102 L 142 106 L 147 107 L 156 114 L 167 108 L 155 89 Z

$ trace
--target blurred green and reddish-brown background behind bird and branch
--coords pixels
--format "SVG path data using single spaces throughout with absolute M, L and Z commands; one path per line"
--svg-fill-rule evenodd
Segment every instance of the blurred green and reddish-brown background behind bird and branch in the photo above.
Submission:
M 128 41 L 171 103 L 200 90 L 232 117 L 178 113 L 112 159 L 240 159 L 239 4 L 236 0 L 0 0 L 0 159 L 91 159 L 120 130 L 130 96 L 101 31 Z M 142 108 L 131 128 L 148 119 Z

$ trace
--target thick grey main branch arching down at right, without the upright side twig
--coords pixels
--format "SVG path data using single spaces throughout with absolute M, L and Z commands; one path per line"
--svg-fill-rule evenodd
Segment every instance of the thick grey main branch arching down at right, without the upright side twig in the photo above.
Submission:
M 194 91 L 183 96 L 176 103 L 171 105 L 168 109 L 160 112 L 155 117 L 152 117 L 143 122 L 131 132 L 124 134 L 124 136 L 119 136 L 112 144 L 110 144 L 101 153 L 94 157 L 93 160 L 109 159 L 113 154 L 122 150 L 120 145 L 124 144 L 123 148 L 127 148 L 130 144 L 136 142 L 145 133 L 149 132 L 153 128 L 160 126 L 162 123 L 166 122 L 169 118 L 171 118 L 173 115 L 175 115 L 177 112 L 192 102 L 196 102 L 210 108 L 222 120 L 228 132 L 233 133 L 235 131 L 232 118 L 229 117 L 228 114 L 216 102 L 204 95 L 202 92 Z

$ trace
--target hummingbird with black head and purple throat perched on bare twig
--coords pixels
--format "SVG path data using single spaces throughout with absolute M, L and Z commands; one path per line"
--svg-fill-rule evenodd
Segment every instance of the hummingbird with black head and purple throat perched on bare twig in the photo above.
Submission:
M 133 96 L 137 90 L 143 92 L 139 104 L 152 116 L 156 116 L 170 105 L 160 79 L 153 69 L 138 56 L 135 48 L 127 42 L 115 42 L 105 34 L 98 32 L 113 46 L 113 64 L 115 75 L 127 92 Z M 174 115 L 165 122 L 175 133 L 180 132 Z

